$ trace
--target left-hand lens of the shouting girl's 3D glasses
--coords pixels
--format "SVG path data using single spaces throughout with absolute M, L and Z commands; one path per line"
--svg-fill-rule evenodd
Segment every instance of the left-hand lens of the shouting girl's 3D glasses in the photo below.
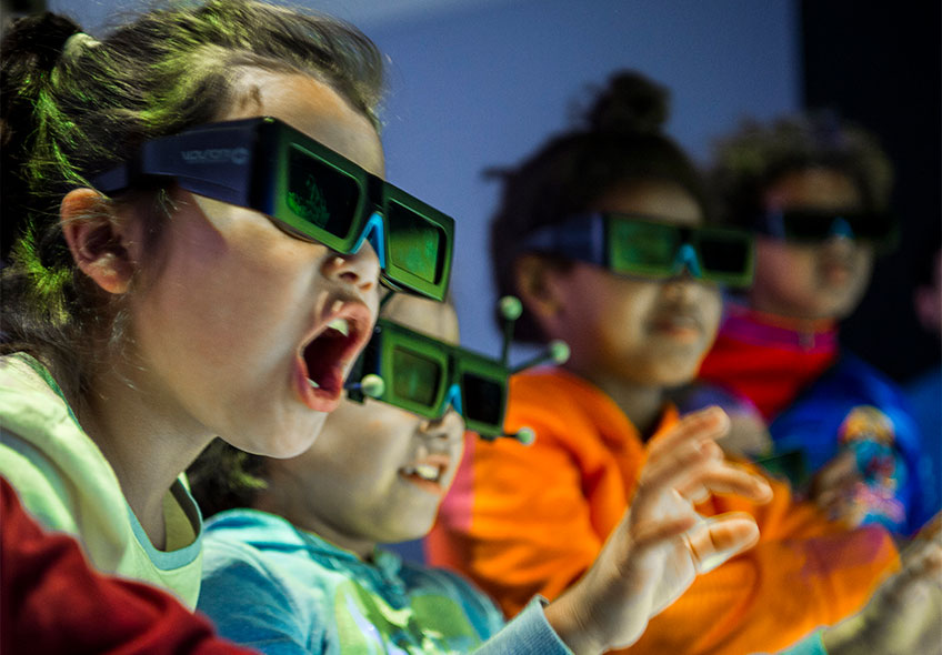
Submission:
M 360 203 L 360 185 L 343 171 L 292 144 L 288 160 L 287 205 L 307 236 L 348 239 Z M 328 243 L 335 248 L 333 243 Z

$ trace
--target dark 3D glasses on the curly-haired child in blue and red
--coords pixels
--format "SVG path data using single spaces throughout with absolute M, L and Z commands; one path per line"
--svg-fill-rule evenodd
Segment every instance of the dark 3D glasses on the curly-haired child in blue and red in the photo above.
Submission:
M 892 215 L 860 211 L 773 209 L 759 218 L 755 230 L 760 234 L 795 243 L 820 243 L 844 236 L 872 242 L 880 249 L 893 248 L 899 236 L 899 225 Z

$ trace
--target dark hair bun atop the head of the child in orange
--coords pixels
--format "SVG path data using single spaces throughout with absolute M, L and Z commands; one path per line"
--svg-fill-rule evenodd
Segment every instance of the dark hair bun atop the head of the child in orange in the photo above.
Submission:
M 670 112 L 669 100 L 667 87 L 637 71 L 619 71 L 585 112 L 585 120 L 595 132 L 660 133 Z

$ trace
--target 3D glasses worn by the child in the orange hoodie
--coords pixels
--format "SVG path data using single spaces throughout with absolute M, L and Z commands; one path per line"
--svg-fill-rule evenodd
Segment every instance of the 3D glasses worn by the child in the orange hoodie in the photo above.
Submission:
M 754 248 L 740 230 L 689 228 L 652 216 L 592 213 L 528 234 L 522 251 L 545 252 L 604 266 L 613 273 L 653 279 L 683 270 L 726 286 L 752 283 Z

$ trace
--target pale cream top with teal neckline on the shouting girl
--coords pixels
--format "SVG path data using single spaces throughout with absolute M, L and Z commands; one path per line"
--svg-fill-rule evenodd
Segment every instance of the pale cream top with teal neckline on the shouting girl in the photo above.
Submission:
M 0 357 L 0 475 L 41 525 L 74 535 L 96 568 L 163 587 L 196 606 L 202 517 L 184 475 L 163 500 L 167 550 L 159 551 L 56 381 L 21 353 Z

